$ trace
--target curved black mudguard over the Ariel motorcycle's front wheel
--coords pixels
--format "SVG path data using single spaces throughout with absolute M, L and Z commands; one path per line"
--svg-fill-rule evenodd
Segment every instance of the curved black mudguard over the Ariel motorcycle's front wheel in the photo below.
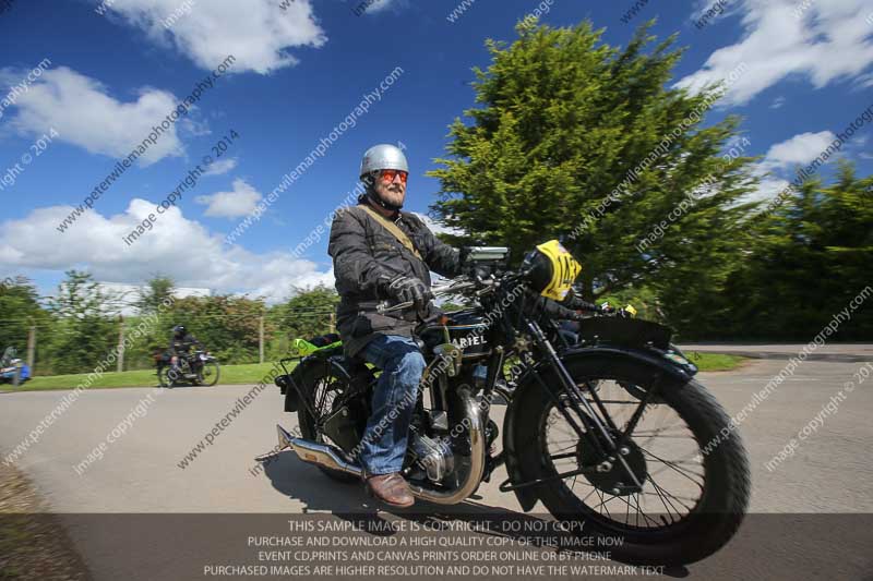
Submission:
M 668 377 L 689 382 L 693 373 L 685 371 L 682 366 L 665 359 L 660 353 L 653 350 L 642 348 L 626 348 L 626 347 L 579 347 L 569 349 L 561 352 L 561 361 L 564 365 L 571 365 L 576 361 L 587 361 L 607 359 L 612 361 L 634 361 L 643 363 L 651 368 L 653 374 L 667 375 Z M 540 377 L 548 376 L 552 373 L 548 363 L 538 363 L 531 370 L 528 370 L 518 380 L 518 386 L 515 388 L 512 401 L 506 409 L 506 416 L 503 422 L 503 450 L 506 458 L 506 472 L 509 480 L 513 485 L 518 485 L 524 482 L 521 465 L 518 463 L 518 444 L 523 437 L 529 436 L 528 432 L 535 429 L 535 426 L 519 425 L 518 412 L 522 407 L 519 402 L 524 401 L 524 395 L 530 389 L 542 389 L 539 382 L 534 377 L 534 372 L 539 373 Z M 536 494 L 536 486 L 525 486 L 515 488 L 515 496 L 525 511 L 529 511 L 537 504 L 538 497 Z

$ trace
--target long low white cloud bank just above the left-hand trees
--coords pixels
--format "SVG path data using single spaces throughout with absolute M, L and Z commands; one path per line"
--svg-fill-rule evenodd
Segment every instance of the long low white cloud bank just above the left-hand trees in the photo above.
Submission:
M 71 209 L 37 208 L 21 220 L 0 225 L 0 269 L 60 271 L 76 267 L 87 269 L 97 280 L 137 285 L 160 265 L 160 273 L 181 287 L 249 292 L 271 302 L 287 298 L 292 286 L 334 283 L 332 270 L 320 271 L 315 263 L 294 258 L 290 253 L 255 254 L 239 245 L 228 247 L 223 235 L 184 218 L 177 207 L 162 214 L 151 231 L 128 245 L 122 237 L 155 211 L 154 201 L 135 198 L 123 214 L 110 217 L 88 210 L 75 228 L 58 232 L 55 226 Z

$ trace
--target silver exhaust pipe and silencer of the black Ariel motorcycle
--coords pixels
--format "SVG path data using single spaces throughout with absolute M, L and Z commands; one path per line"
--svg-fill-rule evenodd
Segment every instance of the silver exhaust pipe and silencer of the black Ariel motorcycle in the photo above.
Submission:
M 410 484 L 409 488 L 412 496 L 429 500 L 436 505 L 456 505 L 479 487 L 485 474 L 485 431 L 482 420 L 479 415 L 479 406 L 471 398 L 466 398 L 466 419 L 469 424 L 470 435 L 470 467 L 467 477 L 457 488 L 450 491 L 438 491 L 424 486 Z M 296 438 L 286 432 L 280 425 L 276 425 L 279 439 L 279 450 L 290 448 L 303 462 L 318 464 L 338 472 L 354 474 L 361 477 L 363 470 L 358 464 L 352 464 L 340 458 L 333 446 L 319 444 L 303 438 Z

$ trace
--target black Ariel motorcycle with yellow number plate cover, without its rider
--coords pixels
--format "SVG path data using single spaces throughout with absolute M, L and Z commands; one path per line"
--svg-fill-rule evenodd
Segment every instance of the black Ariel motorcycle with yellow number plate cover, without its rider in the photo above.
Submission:
M 669 566 L 718 550 L 746 511 L 749 462 L 727 413 L 670 343 L 671 330 L 595 316 L 582 322 L 577 341 L 565 341 L 541 305 L 569 289 L 573 257 L 557 241 L 517 269 L 505 267 L 506 256 L 506 249 L 471 249 L 477 274 L 441 290 L 474 306 L 417 329 L 428 366 L 404 464 L 412 494 L 455 505 L 505 465 L 501 492 L 525 511 L 541 501 L 586 535 L 621 537 L 612 558 Z M 282 361 L 298 363 L 276 385 L 301 437 L 277 426 L 277 449 L 356 480 L 378 370 L 349 361 L 336 339 Z M 507 358 L 524 362 L 512 388 L 501 379 Z M 500 453 L 495 400 L 507 403 Z

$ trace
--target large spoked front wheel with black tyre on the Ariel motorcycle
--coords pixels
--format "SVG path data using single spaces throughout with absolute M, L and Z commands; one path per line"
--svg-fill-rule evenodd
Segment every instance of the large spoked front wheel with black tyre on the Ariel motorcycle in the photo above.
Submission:
M 576 472 L 537 487 L 549 511 L 584 521 L 594 549 L 629 562 L 689 564 L 723 546 L 749 504 L 749 463 L 713 396 L 697 382 L 658 379 L 657 370 L 627 360 L 567 368 L 601 421 L 611 421 L 613 439 L 627 437 L 618 455 L 605 457 L 579 438 L 543 389 L 525 390 L 519 425 L 536 431 L 519 447 L 521 465 L 531 467 L 525 476 Z M 602 409 L 588 386 L 596 386 Z M 579 423 L 575 412 L 572 417 Z

